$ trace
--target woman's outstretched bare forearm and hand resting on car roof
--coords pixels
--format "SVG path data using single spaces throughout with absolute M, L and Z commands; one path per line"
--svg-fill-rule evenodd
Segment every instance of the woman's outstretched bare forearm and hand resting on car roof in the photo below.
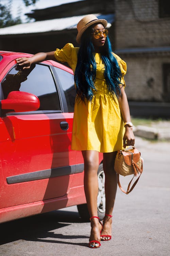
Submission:
M 33 63 L 38 63 L 44 60 L 56 60 L 54 57 L 54 53 L 53 52 L 48 52 L 48 53 L 36 53 L 35 55 L 27 58 L 27 57 L 22 57 L 22 58 L 17 58 L 16 62 L 19 66 L 23 66 L 23 69 L 29 69 L 31 64 Z

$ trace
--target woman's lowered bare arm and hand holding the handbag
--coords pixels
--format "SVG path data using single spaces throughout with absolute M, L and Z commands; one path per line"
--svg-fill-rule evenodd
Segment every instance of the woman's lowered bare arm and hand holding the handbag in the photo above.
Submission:
M 120 111 L 123 117 L 124 123 L 131 122 L 131 116 L 129 111 L 128 99 L 126 97 L 123 86 L 121 85 L 121 95 L 118 98 Z M 125 146 L 133 146 L 135 144 L 135 136 L 133 134 L 132 127 L 125 125 L 125 133 L 123 136 L 123 147 Z

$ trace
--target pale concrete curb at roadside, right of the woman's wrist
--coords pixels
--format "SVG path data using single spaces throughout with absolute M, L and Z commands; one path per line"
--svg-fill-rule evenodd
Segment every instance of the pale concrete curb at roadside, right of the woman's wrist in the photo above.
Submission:
M 134 135 L 150 140 L 170 140 L 169 128 L 155 128 L 138 125 L 133 129 Z

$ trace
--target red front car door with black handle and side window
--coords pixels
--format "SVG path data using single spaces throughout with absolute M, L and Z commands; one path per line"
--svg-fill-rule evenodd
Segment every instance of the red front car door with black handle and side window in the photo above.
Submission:
M 24 72 L 13 66 L 1 82 L 4 98 L 12 90 L 25 91 L 39 98 L 40 108 L 1 116 L 0 208 L 63 197 L 72 182 L 73 113 L 64 113 L 68 112 L 65 98 L 47 63 Z

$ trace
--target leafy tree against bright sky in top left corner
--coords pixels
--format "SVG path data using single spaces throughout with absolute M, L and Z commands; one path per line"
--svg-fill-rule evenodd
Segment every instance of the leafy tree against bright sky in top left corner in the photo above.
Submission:
M 22 23 L 20 14 L 16 18 L 13 18 L 11 14 L 11 6 L 13 0 L 8 0 L 7 4 L 1 4 L 0 2 L 0 28 L 13 26 Z M 22 0 L 26 6 L 35 4 L 38 0 Z

